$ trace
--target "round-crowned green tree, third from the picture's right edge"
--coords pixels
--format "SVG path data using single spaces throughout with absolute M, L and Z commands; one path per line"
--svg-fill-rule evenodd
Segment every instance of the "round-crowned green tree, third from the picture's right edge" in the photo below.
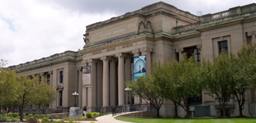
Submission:
M 179 62 L 173 61 L 168 67 L 169 92 L 173 92 L 174 98 L 179 100 L 178 105 L 186 111 L 189 117 L 191 101 L 201 97 L 201 66 L 194 57 L 184 58 Z

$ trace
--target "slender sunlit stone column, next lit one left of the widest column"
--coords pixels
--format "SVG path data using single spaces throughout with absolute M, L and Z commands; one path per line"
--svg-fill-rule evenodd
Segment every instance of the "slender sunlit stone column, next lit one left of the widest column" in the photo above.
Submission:
M 102 57 L 103 62 L 103 107 L 109 106 L 109 60 L 111 57 Z

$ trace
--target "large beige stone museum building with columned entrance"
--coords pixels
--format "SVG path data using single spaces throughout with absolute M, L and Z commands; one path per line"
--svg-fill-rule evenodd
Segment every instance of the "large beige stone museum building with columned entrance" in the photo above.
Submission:
M 236 52 L 243 43 L 256 38 L 256 4 L 233 7 L 227 11 L 195 16 L 165 2 L 157 2 L 125 15 L 112 17 L 86 27 L 85 45 L 78 52 L 67 51 L 33 62 L 9 66 L 24 75 L 40 74 L 50 78 L 50 85 L 59 92 L 59 99 L 50 107 L 70 107 L 73 92 L 78 92 L 79 107 L 123 106 L 143 104 L 140 97 L 130 98 L 125 81 L 137 75 L 149 75 L 154 61 L 178 60 L 187 52 L 213 60 L 221 48 Z M 143 58 L 141 58 L 141 56 Z M 139 59 L 138 59 L 139 58 Z M 137 59 L 135 61 L 135 59 Z M 244 115 L 254 116 L 255 92 L 248 90 Z M 195 103 L 208 106 L 211 116 L 220 116 L 218 103 L 202 93 Z M 230 116 L 239 115 L 238 105 L 231 98 Z M 178 114 L 186 112 L 178 109 Z M 173 116 L 173 103 L 165 101 L 161 116 Z M 191 108 L 193 113 L 195 108 Z

